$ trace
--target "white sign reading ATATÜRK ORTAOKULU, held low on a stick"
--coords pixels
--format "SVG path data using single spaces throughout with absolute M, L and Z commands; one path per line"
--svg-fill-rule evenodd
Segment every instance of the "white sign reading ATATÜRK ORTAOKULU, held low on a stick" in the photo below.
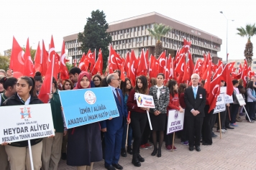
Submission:
M 183 130 L 184 113 L 185 109 L 183 109 L 183 113 L 180 113 L 178 110 L 169 110 L 167 134 Z

